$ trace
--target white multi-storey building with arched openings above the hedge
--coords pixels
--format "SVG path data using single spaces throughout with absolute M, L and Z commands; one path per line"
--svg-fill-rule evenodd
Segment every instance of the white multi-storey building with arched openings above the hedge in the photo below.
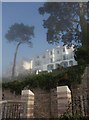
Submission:
M 52 71 L 58 66 L 69 67 L 77 65 L 74 59 L 73 47 L 57 46 L 35 56 L 30 62 L 32 71 Z

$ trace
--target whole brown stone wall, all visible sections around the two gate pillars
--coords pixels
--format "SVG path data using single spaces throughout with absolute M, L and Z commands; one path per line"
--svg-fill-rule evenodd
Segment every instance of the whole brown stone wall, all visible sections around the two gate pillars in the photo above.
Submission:
M 73 114 L 89 115 L 89 66 L 86 67 L 82 76 L 82 82 L 72 90 Z M 34 115 L 36 118 L 57 118 L 57 90 L 44 91 L 32 89 L 35 94 Z M 6 100 L 21 99 L 20 95 L 15 95 L 9 90 L 3 91 Z

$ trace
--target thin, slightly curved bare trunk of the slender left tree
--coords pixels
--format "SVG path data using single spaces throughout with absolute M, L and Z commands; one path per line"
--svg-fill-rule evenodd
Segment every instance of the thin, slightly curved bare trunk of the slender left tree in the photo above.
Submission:
M 11 76 L 12 79 L 15 77 L 16 57 L 17 57 L 17 52 L 18 52 L 18 48 L 19 48 L 20 44 L 21 44 L 21 42 L 19 42 L 17 44 L 16 50 L 14 53 L 14 62 L 13 62 L 13 66 L 12 66 L 12 76 Z

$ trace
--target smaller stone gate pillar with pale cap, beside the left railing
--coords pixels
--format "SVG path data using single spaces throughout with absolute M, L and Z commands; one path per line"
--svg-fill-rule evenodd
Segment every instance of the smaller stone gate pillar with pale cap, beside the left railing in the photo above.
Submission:
M 21 99 L 26 103 L 22 118 L 34 118 L 34 93 L 31 90 L 22 90 Z

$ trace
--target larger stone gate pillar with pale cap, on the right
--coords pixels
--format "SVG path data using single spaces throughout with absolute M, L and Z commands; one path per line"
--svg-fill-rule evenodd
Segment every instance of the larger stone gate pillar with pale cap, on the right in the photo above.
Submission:
M 57 87 L 58 117 L 72 114 L 71 91 L 68 86 Z

